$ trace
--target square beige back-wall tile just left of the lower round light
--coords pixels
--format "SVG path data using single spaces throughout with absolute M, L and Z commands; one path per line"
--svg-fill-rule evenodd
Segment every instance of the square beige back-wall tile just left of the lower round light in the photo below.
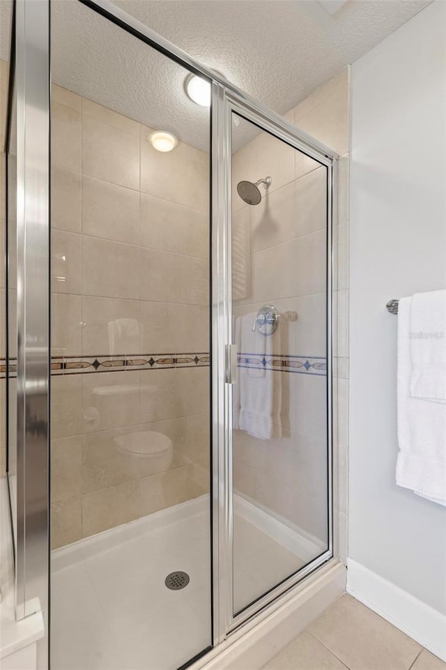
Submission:
M 82 171 L 114 184 L 139 188 L 139 138 L 82 116 Z

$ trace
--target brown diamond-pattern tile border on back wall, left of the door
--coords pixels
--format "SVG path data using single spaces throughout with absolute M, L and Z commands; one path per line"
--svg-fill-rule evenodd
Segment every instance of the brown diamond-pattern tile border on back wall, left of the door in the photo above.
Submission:
M 102 372 L 155 370 L 171 368 L 199 368 L 209 366 L 207 352 L 179 354 L 132 354 L 130 356 L 53 356 L 52 375 L 83 375 Z M 10 376 L 17 376 L 15 359 L 10 360 Z M 0 378 L 6 377 L 6 361 L 0 359 Z

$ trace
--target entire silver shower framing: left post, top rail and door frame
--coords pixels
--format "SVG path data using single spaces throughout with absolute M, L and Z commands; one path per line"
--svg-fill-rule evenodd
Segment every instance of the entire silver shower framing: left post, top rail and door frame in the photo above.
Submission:
M 115 6 L 110 0 L 79 0 L 167 57 L 200 75 L 212 85 L 212 543 L 213 543 L 213 643 L 217 645 L 290 590 L 332 556 L 332 218 L 337 159 L 339 156 L 298 131 L 293 124 L 203 66 Z M 31 613 L 29 602 L 35 584 L 49 583 L 49 0 L 22 0 L 22 31 L 17 31 L 17 134 L 25 139 L 17 147 L 22 156 L 19 173 L 18 225 L 26 226 L 22 244 L 26 253 L 20 265 L 22 318 L 19 323 L 18 396 L 21 402 L 17 440 L 22 439 L 24 503 L 22 544 L 17 546 L 17 584 L 20 616 Z M 22 11 L 20 10 L 20 11 Z M 25 20 L 26 18 L 26 20 Z M 26 56 L 26 58 L 25 58 Z M 22 94 L 20 94 L 22 91 Z M 328 435 L 330 473 L 330 546 L 323 556 L 290 577 L 242 613 L 233 616 L 232 597 L 232 473 L 231 387 L 226 383 L 226 347 L 231 344 L 231 113 L 272 133 L 279 140 L 311 156 L 328 170 Z M 26 135 L 25 135 L 26 125 Z M 20 224 L 22 216 L 22 224 Z M 25 230 L 25 229 L 23 229 Z M 19 299 L 20 301 L 20 299 Z M 26 449 L 24 445 L 26 444 Z M 22 477 L 22 482 L 18 480 Z M 37 539 L 37 542 L 36 542 Z M 31 572 L 32 571 L 32 572 Z M 43 592 L 41 592 L 43 593 Z M 36 595 L 40 595 L 37 594 Z M 43 595 L 41 603 L 47 610 Z M 49 637 L 47 632 L 47 638 Z

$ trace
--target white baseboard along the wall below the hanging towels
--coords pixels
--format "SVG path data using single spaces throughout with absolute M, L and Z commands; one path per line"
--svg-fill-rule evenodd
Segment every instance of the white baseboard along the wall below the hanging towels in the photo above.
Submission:
M 446 616 L 351 558 L 347 593 L 446 661 Z

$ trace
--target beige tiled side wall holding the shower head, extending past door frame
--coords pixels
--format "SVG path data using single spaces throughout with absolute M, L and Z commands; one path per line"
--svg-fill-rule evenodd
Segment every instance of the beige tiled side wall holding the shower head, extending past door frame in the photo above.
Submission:
M 341 156 L 339 211 L 335 213 L 333 235 L 337 260 L 333 305 L 333 442 L 334 516 L 343 560 L 346 560 L 348 445 L 349 104 L 346 68 L 286 114 L 298 128 Z M 272 175 L 272 185 L 261 204 L 244 206 L 235 189 L 238 181 L 255 181 L 266 174 Z M 318 168 L 311 159 L 264 133 L 233 156 L 234 311 L 239 315 L 255 313 L 271 296 L 291 296 L 274 301 L 280 313 L 289 310 L 298 313 L 296 322 L 281 322 L 272 336 L 272 351 L 276 355 L 291 352 L 325 359 L 325 332 L 319 327 L 325 323 L 324 181 L 324 168 Z M 247 248 L 247 244 L 252 248 Z M 275 372 L 282 377 L 282 438 L 261 441 L 238 431 L 233 477 L 239 493 L 291 521 L 304 533 L 322 539 L 327 467 L 325 377 L 312 374 L 313 368 L 308 372 L 306 375 Z

